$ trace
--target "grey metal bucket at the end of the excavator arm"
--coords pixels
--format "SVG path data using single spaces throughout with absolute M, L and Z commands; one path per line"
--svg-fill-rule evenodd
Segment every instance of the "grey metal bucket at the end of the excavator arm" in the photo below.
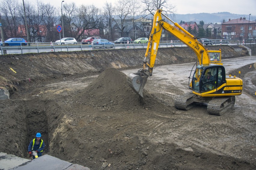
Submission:
M 126 81 L 132 89 L 143 98 L 143 88 L 148 80 L 148 76 L 140 73 L 129 73 L 126 76 Z

